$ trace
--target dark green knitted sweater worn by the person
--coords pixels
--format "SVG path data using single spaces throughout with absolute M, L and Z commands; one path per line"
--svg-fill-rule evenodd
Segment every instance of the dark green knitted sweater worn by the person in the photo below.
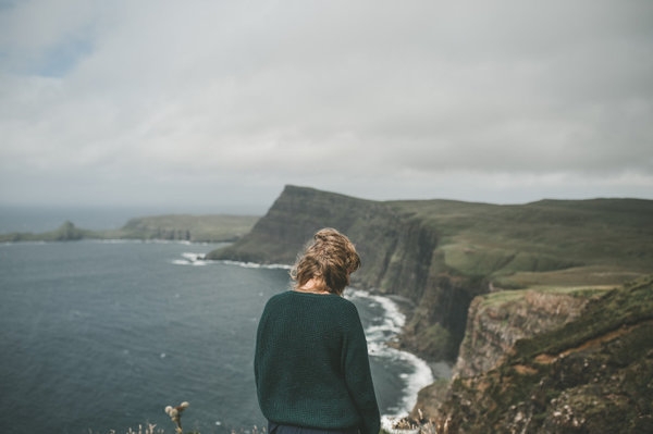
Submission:
M 254 360 L 259 406 L 272 422 L 380 431 L 367 342 L 354 303 L 288 290 L 261 315 Z

